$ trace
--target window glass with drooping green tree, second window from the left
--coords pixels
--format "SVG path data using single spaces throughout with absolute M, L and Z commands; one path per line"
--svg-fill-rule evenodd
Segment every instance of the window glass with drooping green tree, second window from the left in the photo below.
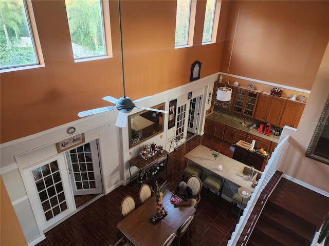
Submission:
M 75 59 L 106 55 L 100 0 L 65 0 Z

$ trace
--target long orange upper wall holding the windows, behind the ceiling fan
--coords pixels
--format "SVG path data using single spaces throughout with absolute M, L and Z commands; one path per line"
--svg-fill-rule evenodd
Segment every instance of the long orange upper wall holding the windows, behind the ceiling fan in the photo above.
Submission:
M 77 120 L 80 111 L 108 106 L 102 97 L 123 95 L 117 1 L 109 2 L 113 58 L 81 63 L 73 59 L 65 2 L 32 5 L 45 67 L 1 73 L 2 143 Z M 125 89 L 132 99 L 188 84 L 195 60 L 202 62 L 202 77 L 219 71 L 223 42 L 174 49 L 175 1 L 122 1 L 121 10 Z

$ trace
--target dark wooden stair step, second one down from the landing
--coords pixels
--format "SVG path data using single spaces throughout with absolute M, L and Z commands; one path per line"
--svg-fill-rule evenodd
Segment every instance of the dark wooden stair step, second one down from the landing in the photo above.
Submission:
M 312 241 L 309 241 L 296 233 L 293 233 L 287 228 L 281 226 L 277 221 L 269 221 L 266 216 L 262 216 L 257 221 L 257 229 L 262 233 L 266 234 L 268 237 L 275 238 L 276 241 L 281 243 L 281 245 L 291 246 L 291 245 L 309 245 Z M 268 244 L 269 245 L 269 244 Z

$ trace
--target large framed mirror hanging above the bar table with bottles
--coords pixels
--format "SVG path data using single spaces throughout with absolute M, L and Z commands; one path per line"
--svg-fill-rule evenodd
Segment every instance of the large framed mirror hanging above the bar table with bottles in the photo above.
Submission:
M 165 110 L 165 103 L 151 108 Z M 163 113 L 150 110 L 143 110 L 136 114 L 129 115 L 129 149 L 163 132 L 163 116 Z

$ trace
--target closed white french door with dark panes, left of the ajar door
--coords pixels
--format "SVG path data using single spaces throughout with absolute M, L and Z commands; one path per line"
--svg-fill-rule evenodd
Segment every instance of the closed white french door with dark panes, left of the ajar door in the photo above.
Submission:
M 24 170 L 35 218 L 45 230 L 75 211 L 66 161 L 63 154 Z

